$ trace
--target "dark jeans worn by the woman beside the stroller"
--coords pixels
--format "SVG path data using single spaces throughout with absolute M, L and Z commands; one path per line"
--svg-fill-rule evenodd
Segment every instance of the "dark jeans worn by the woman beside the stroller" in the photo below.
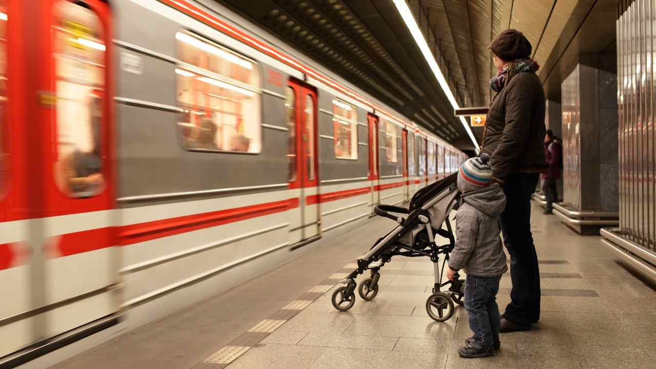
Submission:
M 537 173 L 513 173 L 505 179 L 506 209 L 501 213 L 503 244 L 510 254 L 510 303 L 503 317 L 529 325 L 540 320 L 540 270 L 531 234 L 531 195 Z

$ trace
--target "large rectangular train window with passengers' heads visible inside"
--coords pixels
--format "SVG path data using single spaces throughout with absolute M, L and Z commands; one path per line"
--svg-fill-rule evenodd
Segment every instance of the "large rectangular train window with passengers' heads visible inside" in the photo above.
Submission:
M 176 103 L 178 104 L 178 119 L 176 121 L 176 132 L 177 132 L 177 137 L 178 137 L 178 142 L 180 143 L 180 146 L 184 148 L 184 150 L 191 151 L 191 152 L 213 152 L 213 153 L 220 153 L 220 154 L 242 154 L 242 155 L 259 155 L 262 153 L 262 148 L 264 146 L 264 133 L 262 130 L 262 123 L 264 121 L 264 94 L 262 93 L 262 83 L 263 83 L 263 73 L 262 73 L 262 66 L 259 62 L 257 62 L 253 58 L 249 58 L 248 56 L 238 53 L 237 51 L 234 51 L 225 45 L 222 45 L 220 43 L 217 43 L 211 39 L 207 39 L 206 37 L 203 37 L 201 35 L 198 35 L 197 33 L 190 32 L 188 30 L 179 30 L 178 32 L 175 33 L 175 39 L 176 39 L 176 47 L 175 47 L 175 54 L 176 54 L 176 65 L 174 68 L 174 73 L 177 75 L 176 76 Z M 195 45 L 194 45 L 195 43 Z M 232 67 L 234 64 L 239 64 L 239 63 L 249 63 L 251 68 L 245 67 L 243 64 L 239 64 L 240 66 L 243 66 L 245 69 L 251 69 L 253 72 L 249 74 L 250 79 L 255 79 L 255 81 L 251 81 L 251 83 L 245 82 L 245 81 L 240 81 L 239 79 L 235 79 L 232 76 L 233 74 L 221 74 L 219 72 L 213 72 L 212 70 L 208 68 L 203 68 L 201 66 L 192 64 L 190 62 L 185 62 L 183 61 L 182 58 L 182 51 L 181 51 L 181 45 L 190 45 L 190 48 L 197 49 L 197 51 L 205 51 L 206 53 L 211 53 L 216 55 L 216 60 L 219 60 L 220 58 L 224 60 L 228 60 L 227 65 L 229 67 Z M 202 46 L 198 46 L 202 45 Z M 201 47 L 203 49 L 201 49 Z M 208 50 L 214 50 L 215 53 L 212 53 L 211 51 Z M 236 62 L 234 60 L 238 60 L 239 62 Z M 200 63 L 198 63 L 200 64 Z M 216 70 L 219 68 L 217 67 Z M 228 140 L 226 140 L 226 135 L 222 133 L 222 147 L 224 146 L 229 146 L 228 149 L 224 148 L 218 148 L 216 145 L 216 135 L 218 134 L 219 130 L 223 131 L 226 126 L 228 126 L 226 123 L 222 123 L 221 125 L 218 125 L 215 121 L 217 119 L 217 114 L 220 114 L 221 118 L 224 118 L 226 115 L 230 115 L 230 113 L 233 113 L 232 115 L 237 115 L 234 114 L 235 112 L 232 111 L 222 111 L 222 110 L 217 110 L 214 109 L 213 106 L 210 104 L 207 104 L 203 102 L 202 104 L 197 104 L 196 108 L 201 107 L 205 108 L 206 112 L 210 112 L 212 114 L 213 118 L 207 118 L 207 120 L 211 121 L 211 123 L 214 123 L 216 126 L 215 129 L 216 131 L 214 132 L 214 137 L 210 141 L 213 143 L 216 148 L 204 148 L 204 147 L 199 147 L 199 146 L 190 146 L 190 142 L 194 142 L 188 137 L 192 135 L 190 130 L 192 128 L 198 128 L 199 125 L 195 125 L 194 123 L 190 123 L 189 121 L 192 120 L 190 118 L 188 119 L 182 119 L 182 117 L 186 116 L 188 113 L 189 116 L 191 116 L 192 112 L 192 106 L 191 104 L 188 104 L 186 102 L 183 102 L 180 100 L 180 81 L 181 78 L 184 77 L 193 77 L 197 76 L 197 79 L 207 83 L 207 85 L 213 86 L 213 87 L 218 87 L 222 90 L 230 90 L 234 91 L 236 93 L 243 93 L 246 96 L 252 97 L 253 98 L 253 103 L 251 104 L 250 107 L 247 108 L 241 108 L 241 112 L 247 112 L 249 108 L 257 108 L 258 112 L 253 114 L 251 117 L 251 121 L 247 121 L 247 118 L 244 118 L 244 115 L 238 116 L 237 122 L 234 124 L 235 127 L 238 127 L 239 124 L 247 125 L 249 129 L 252 129 L 253 131 L 251 132 L 251 135 L 246 135 L 243 131 L 239 131 L 237 128 L 234 130 L 236 131 L 235 133 L 232 133 L 232 135 L 229 137 Z M 203 79 L 201 79 L 203 78 Z M 230 87 L 228 87 L 230 86 Z M 192 87 L 194 88 L 194 87 Z M 210 87 L 212 88 L 212 87 Z M 252 95 L 249 95 L 252 94 Z M 210 95 L 207 93 L 207 95 Z M 239 102 L 236 102 L 235 100 L 230 100 L 230 97 L 228 95 L 220 95 L 220 94 L 212 94 L 211 97 L 221 99 L 221 100 L 226 100 L 233 102 L 234 104 L 238 104 Z M 243 104 L 243 102 L 241 102 Z M 189 110 L 189 111 L 188 111 Z M 237 109 L 235 110 L 237 111 Z M 201 114 L 197 114 L 201 115 Z M 202 114 L 203 116 L 207 117 L 207 114 Z M 239 121 L 239 119 L 243 119 L 243 121 Z M 183 121 L 185 120 L 185 121 Z M 197 124 L 200 124 L 200 120 L 197 120 Z M 206 121 L 206 123 L 209 123 Z M 232 126 L 230 126 L 232 127 Z M 244 127 L 245 128 L 245 127 Z M 211 129 L 211 127 L 210 127 Z M 205 131 L 205 130 L 203 130 Z M 198 131 L 198 135 L 200 135 L 200 131 Z M 234 140 L 236 139 L 237 143 L 234 143 Z M 247 140 L 247 144 L 249 145 L 246 150 L 234 150 L 234 146 L 236 145 L 241 145 L 245 144 L 245 140 Z M 253 143 L 253 141 L 255 141 Z M 210 144 L 210 142 L 205 142 L 205 144 Z M 230 144 L 226 144 L 226 142 L 230 142 Z

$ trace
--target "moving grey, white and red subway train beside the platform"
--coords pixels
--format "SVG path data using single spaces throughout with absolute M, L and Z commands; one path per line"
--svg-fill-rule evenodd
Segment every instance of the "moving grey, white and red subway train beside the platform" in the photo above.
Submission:
M 465 159 L 219 10 L 0 0 L 0 363 L 231 288 Z

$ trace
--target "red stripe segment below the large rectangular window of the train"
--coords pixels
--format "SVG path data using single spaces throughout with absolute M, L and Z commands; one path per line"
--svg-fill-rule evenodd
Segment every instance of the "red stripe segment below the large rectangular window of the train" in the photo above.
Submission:
M 192 230 L 216 227 L 218 225 L 261 217 L 262 215 L 280 213 L 297 206 L 298 199 L 282 200 L 266 204 L 236 207 L 234 209 L 162 219 L 161 221 L 127 225 L 119 229 L 119 244 L 126 246 L 138 242 L 154 240 L 155 238 L 191 232 Z

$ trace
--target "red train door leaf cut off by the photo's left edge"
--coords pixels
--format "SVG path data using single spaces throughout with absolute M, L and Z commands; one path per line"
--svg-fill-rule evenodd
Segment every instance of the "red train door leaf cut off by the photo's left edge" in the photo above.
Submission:
M 35 258 L 28 243 L 24 18 L 23 1 L 0 0 L 0 357 L 36 339 L 30 311 L 39 307 L 32 301 Z

